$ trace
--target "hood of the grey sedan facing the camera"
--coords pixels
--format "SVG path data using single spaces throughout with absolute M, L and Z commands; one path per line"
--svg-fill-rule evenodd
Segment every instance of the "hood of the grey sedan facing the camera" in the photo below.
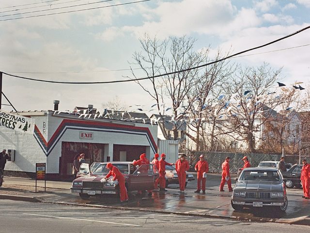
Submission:
M 245 191 L 282 191 L 283 183 L 274 181 L 239 181 L 234 187 L 234 190 L 236 189 Z

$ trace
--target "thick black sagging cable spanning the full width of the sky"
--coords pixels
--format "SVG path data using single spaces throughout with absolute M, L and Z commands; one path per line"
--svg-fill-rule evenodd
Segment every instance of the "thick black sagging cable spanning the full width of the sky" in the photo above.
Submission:
M 171 75 L 171 74 L 176 74 L 176 73 L 181 73 L 181 72 L 185 72 L 185 71 L 189 71 L 189 70 L 192 70 L 192 69 L 197 69 L 197 68 L 201 68 L 201 67 L 206 67 L 208 65 L 212 65 L 212 64 L 215 64 L 215 63 L 218 63 L 218 62 L 221 62 L 221 61 L 224 61 L 226 59 L 229 59 L 229 58 L 232 58 L 232 57 L 235 57 L 239 54 L 242 54 L 242 53 L 245 53 L 245 52 L 248 52 L 248 51 L 251 51 L 251 50 L 257 50 L 257 49 L 260 49 L 260 48 L 263 48 L 265 46 L 268 46 L 268 45 L 271 45 L 271 44 L 274 44 L 276 42 L 279 42 L 281 40 L 284 40 L 286 38 L 289 38 L 293 35 L 296 35 L 298 33 L 301 33 L 305 30 L 308 30 L 310 29 L 310 26 L 308 27 L 305 27 L 301 30 L 298 30 L 294 33 L 291 33 L 289 35 L 286 35 L 286 36 L 283 36 L 277 40 L 274 40 L 274 41 L 271 41 L 269 43 L 266 43 L 266 44 L 263 44 L 263 45 L 260 45 L 260 46 L 257 46 L 257 47 L 254 47 L 254 48 L 251 48 L 251 49 L 248 49 L 248 50 L 243 50 L 241 52 L 237 52 L 233 55 L 230 55 L 230 56 L 227 56 L 227 57 L 224 57 L 222 59 L 219 59 L 219 60 L 216 60 L 216 61 L 213 61 L 213 62 L 209 62 L 209 63 L 206 63 L 206 64 L 203 64 L 203 65 L 200 65 L 200 66 L 197 66 L 197 67 L 190 67 L 190 68 L 187 68 L 187 69 L 182 69 L 182 70 L 179 70 L 179 71 L 174 71 L 174 72 L 169 72 L 169 73 L 165 73 L 165 74 L 159 74 L 159 75 L 155 75 L 155 76 L 152 76 L 152 77 L 145 77 L 145 78 L 139 78 L 139 79 L 129 79 L 129 80 L 118 80 L 118 81 L 108 81 L 108 82 L 57 82 L 57 81 L 48 81 L 48 80 L 40 80 L 40 79 L 32 79 L 32 78 L 26 78 L 26 77 L 21 77 L 21 76 L 17 76 L 17 75 L 12 75 L 12 74 L 8 74 L 6 72 L 3 72 L 3 74 L 6 74 L 8 76 L 12 76 L 12 77 L 16 77 L 16 78 L 20 78 L 20 79 L 26 79 L 26 80 L 31 80 L 31 81 L 38 81 L 38 82 L 44 82 L 44 83 L 62 83 L 62 84 L 104 84 L 104 83 L 124 83 L 124 82 L 132 82 L 132 81 L 140 81 L 140 80 L 146 80 L 146 79 L 153 79 L 153 78 L 158 78 L 158 77 L 162 77 L 162 76 L 166 76 L 166 75 Z

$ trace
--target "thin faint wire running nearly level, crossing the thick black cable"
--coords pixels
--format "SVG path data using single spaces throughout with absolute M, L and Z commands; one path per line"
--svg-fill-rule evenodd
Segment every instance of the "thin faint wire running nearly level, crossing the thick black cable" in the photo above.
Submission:
M 306 47 L 306 46 L 310 46 L 310 44 L 299 45 L 299 46 L 294 46 L 294 47 L 289 47 L 289 48 L 284 48 L 284 49 L 279 49 L 279 50 L 271 50 L 271 51 L 258 52 L 258 53 L 251 53 L 251 54 L 241 55 L 241 56 L 234 56 L 234 57 L 232 57 L 232 58 L 248 57 L 248 56 L 253 56 L 253 55 L 258 55 L 258 54 L 264 54 L 264 53 L 270 53 L 270 52 L 278 52 L 278 51 L 283 51 L 283 50 L 291 50 L 291 49 L 296 49 L 296 48 L 301 48 L 301 47 Z M 210 61 L 216 61 L 216 60 L 210 60 Z M 150 68 L 150 67 L 147 67 L 147 68 Z M 7 71 L 7 72 L 9 72 L 9 73 L 16 73 L 16 74 L 68 74 L 68 73 L 115 72 L 115 71 L 126 71 L 126 70 L 136 70 L 136 69 L 142 69 L 142 68 L 92 70 L 92 71 L 62 71 L 62 72 L 16 72 L 16 71 Z

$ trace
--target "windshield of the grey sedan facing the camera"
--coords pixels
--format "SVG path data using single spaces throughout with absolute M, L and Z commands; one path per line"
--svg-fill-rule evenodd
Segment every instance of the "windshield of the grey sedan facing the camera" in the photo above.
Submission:
M 280 182 L 281 178 L 278 171 L 267 170 L 244 170 L 239 181 L 275 181 Z

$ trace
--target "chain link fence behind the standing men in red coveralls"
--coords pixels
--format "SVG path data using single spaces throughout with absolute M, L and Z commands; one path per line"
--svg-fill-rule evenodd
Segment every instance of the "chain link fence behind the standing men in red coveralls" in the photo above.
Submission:
M 209 164 L 210 173 L 221 173 L 222 172 L 222 163 L 226 157 L 230 157 L 230 173 L 236 174 L 238 168 L 243 167 L 244 162 L 242 161 L 243 156 L 248 156 L 248 161 L 252 167 L 258 166 L 262 161 L 279 161 L 281 156 L 280 154 L 253 154 L 253 153 L 230 153 L 230 152 L 206 152 L 198 151 L 191 152 L 189 155 L 189 166 L 190 171 L 195 171 L 195 165 L 199 160 L 199 156 L 203 154 L 205 160 Z

